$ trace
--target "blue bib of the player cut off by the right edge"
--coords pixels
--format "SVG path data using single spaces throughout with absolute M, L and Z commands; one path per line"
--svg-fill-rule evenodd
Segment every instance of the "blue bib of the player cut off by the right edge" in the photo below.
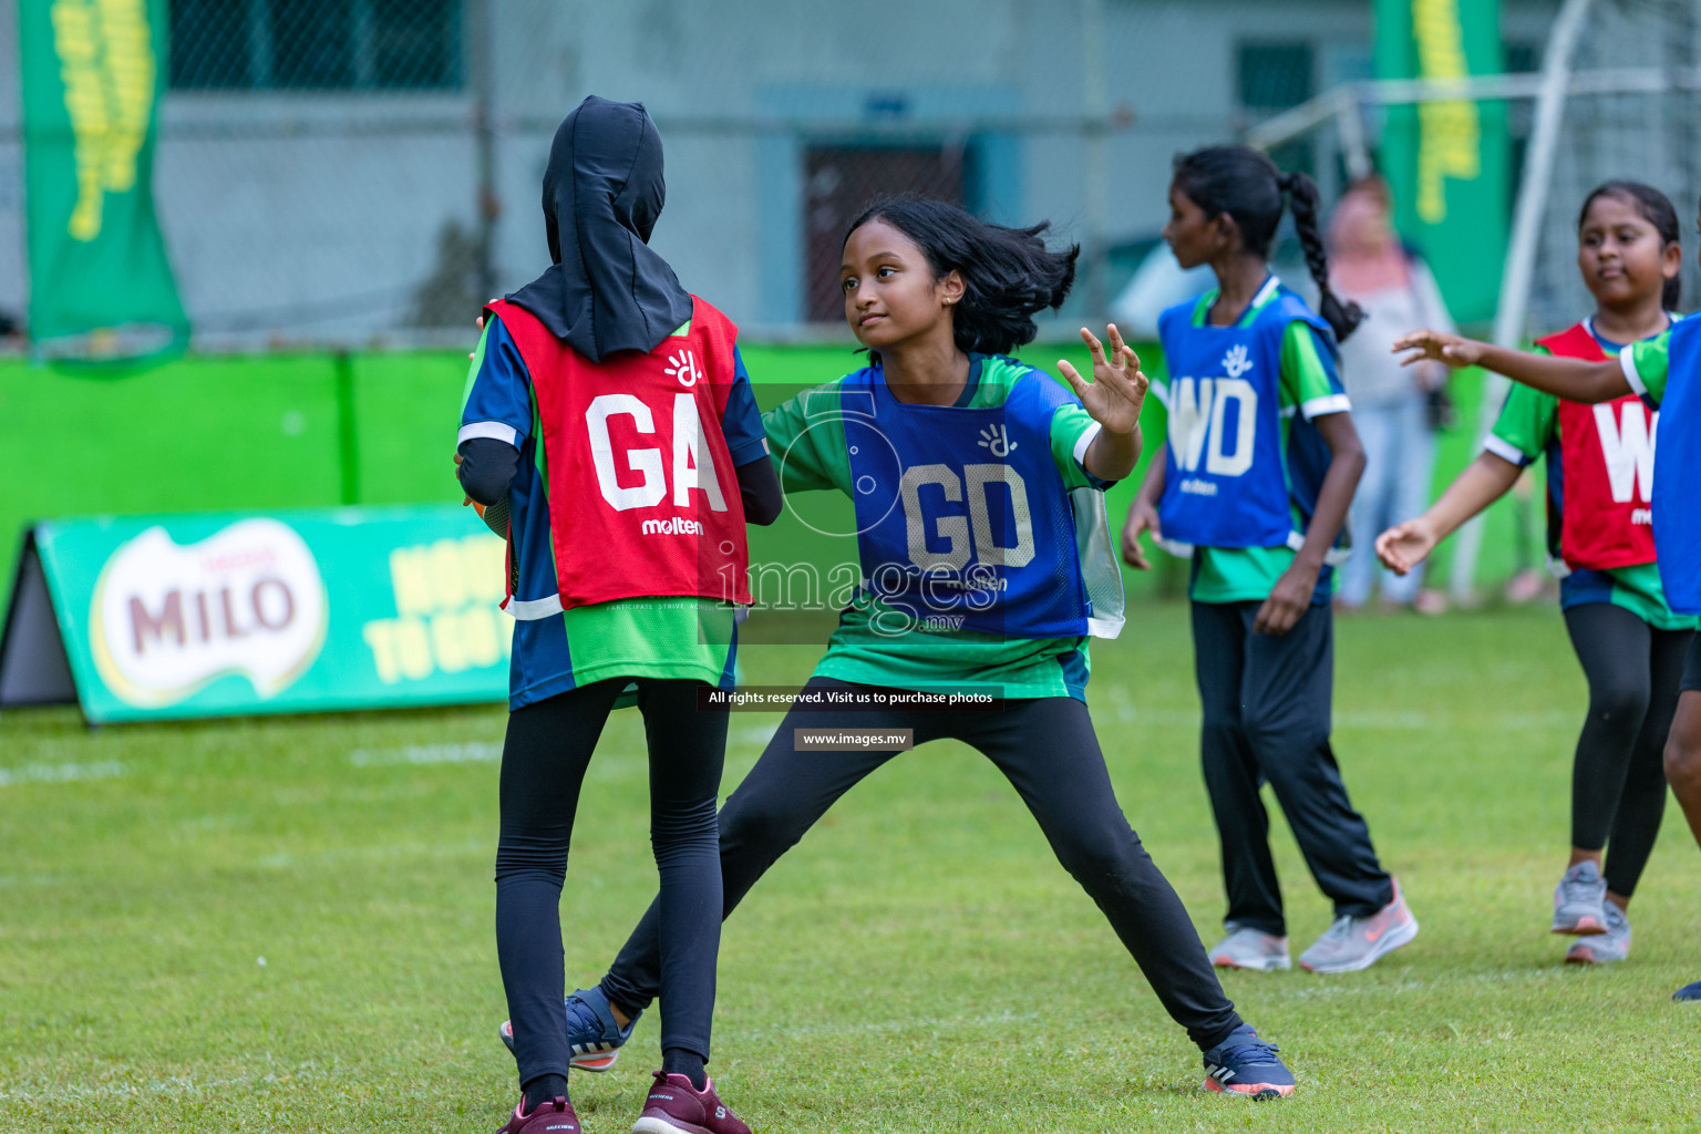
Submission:
M 1665 366 L 1653 462 L 1653 547 L 1665 602 L 1677 614 L 1701 614 L 1701 318 L 1672 326 Z

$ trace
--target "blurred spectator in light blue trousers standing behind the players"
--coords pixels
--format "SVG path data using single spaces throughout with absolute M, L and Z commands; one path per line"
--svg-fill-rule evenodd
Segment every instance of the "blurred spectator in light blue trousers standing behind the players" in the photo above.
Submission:
M 1352 398 L 1366 466 L 1351 513 L 1354 553 L 1342 570 L 1337 602 L 1363 607 L 1380 575 L 1386 605 L 1436 614 L 1446 598 L 1422 590 L 1422 571 L 1403 578 L 1385 571 L 1371 549 L 1376 532 L 1429 507 L 1436 430 L 1451 410 L 1442 393 L 1444 366 L 1402 367 L 1390 350 L 1395 338 L 1417 326 L 1453 330 L 1429 267 L 1395 235 L 1390 204 L 1386 182 L 1361 179 L 1340 197 L 1328 226 L 1330 284 L 1368 316 L 1340 347 L 1340 377 Z

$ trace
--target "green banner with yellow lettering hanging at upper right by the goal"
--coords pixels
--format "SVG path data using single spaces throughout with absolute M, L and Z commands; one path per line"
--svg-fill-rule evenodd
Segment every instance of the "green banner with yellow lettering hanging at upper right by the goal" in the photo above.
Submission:
M 1502 70 L 1499 0 L 1376 0 L 1376 78 Z M 1381 168 L 1395 221 L 1429 260 L 1453 316 L 1493 318 L 1507 233 L 1504 102 L 1390 107 Z

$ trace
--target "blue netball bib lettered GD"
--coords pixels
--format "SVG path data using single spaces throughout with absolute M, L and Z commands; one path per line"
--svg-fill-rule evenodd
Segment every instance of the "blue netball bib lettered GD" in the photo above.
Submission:
M 876 631 L 1114 636 L 1121 580 L 1101 600 L 1114 610 L 1095 612 L 1051 457 L 1051 413 L 1067 401 L 1033 371 L 983 410 L 898 401 L 878 367 L 840 384 L 862 587 L 893 621 Z M 1102 493 L 1085 491 L 1104 527 Z

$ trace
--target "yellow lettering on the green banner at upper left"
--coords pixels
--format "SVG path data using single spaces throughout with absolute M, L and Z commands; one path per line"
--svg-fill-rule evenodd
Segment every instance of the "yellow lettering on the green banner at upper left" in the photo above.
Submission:
M 53 0 L 53 43 L 77 136 L 77 207 L 66 231 L 100 235 L 105 194 L 136 185 L 156 63 L 146 0 Z

